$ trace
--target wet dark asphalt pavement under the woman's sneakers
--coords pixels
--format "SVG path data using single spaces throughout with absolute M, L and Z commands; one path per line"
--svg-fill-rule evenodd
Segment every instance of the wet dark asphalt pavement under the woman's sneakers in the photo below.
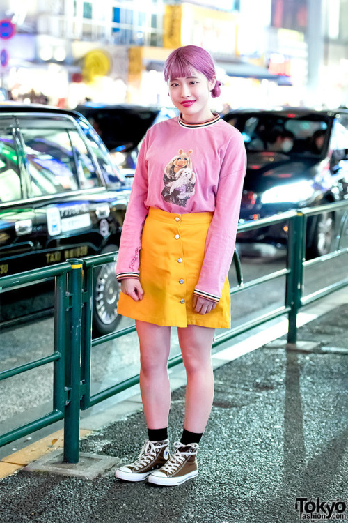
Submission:
M 1 523 L 292 523 L 301 521 L 296 498 L 347 501 L 348 305 L 301 327 L 299 340 L 319 349 L 269 344 L 214 371 L 198 478 L 156 487 L 113 471 L 95 480 L 19 471 L 0 481 Z M 180 388 L 171 441 L 183 418 Z M 146 437 L 143 413 L 110 423 L 81 452 L 133 460 Z

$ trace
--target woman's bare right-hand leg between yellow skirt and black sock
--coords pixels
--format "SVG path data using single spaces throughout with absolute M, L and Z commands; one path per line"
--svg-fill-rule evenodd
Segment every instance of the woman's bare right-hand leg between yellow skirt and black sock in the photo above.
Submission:
M 212 410 L 214 374 L 211 351 L 214 331 L 214 328 L 198 325 L 177 329 L 187 375 L 184 427 L 190 432 L 204 432 Z

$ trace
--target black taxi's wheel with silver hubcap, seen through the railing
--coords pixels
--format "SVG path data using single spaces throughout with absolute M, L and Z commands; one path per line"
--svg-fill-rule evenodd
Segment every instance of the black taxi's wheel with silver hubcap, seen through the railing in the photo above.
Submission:
M 102 254 L 117 251 L 116 245 L 108 245 Z M 120 283 L 116 278 L 116 261 L 95 269 L 93 292 L 93 331 L 100 335 L 112 333 L 120 321 L 117 313 Z

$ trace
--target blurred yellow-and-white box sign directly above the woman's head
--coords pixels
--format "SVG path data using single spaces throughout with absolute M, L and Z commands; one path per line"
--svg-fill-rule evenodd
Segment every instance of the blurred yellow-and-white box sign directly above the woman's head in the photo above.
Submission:
M 235 56 L 238 14 L 191 3 L 168 6 L 164 14 L 164 47 L 200 45 L 209 52 Z

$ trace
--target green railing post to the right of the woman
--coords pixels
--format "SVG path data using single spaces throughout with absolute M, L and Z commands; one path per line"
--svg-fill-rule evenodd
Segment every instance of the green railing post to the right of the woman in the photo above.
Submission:
M 291 306 L 289 312 L 289 328 L 287 343 L 296 344 L 297 341 L 297 314 L 301 308 L 303 257 L 306 240 L 306 220 L 301 211 L 298 211 L 294 220 L 290 220 L 289 258 L 291 265 L 290 285 L 287 287 L 287 304 Z

